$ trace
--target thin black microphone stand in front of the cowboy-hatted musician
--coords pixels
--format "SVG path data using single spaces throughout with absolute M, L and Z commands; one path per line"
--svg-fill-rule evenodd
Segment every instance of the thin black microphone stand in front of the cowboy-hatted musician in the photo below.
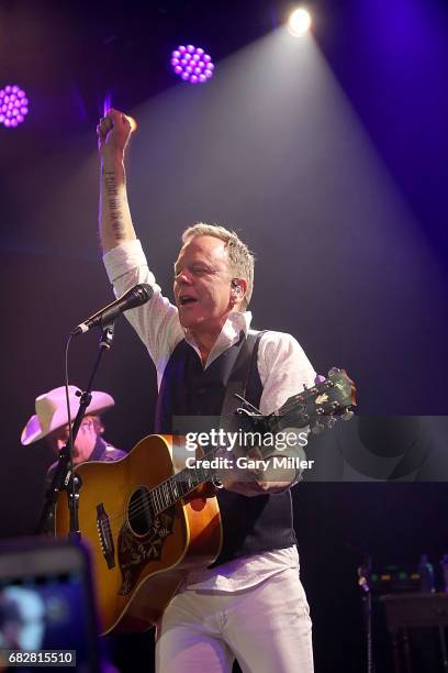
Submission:
M 78 435 L 79 428 L 81 426 L 82 419 L 86 416 L 86 410 L 89 407 L 92 399 L 92 386 L 93 379 L 97 374 L 98 367 L 100 365 L 101 356 L 104 351 L 109 351 L 114 335 L 114 320 L 116 316 L 108 321 L 107 324 L 102 324 L 102 333 L 99 344 L 99 352 L 97 355 L 97 360 L 93 365 L 92 373 L 89 378 L 89 383 L 87 384 L 87 388 L 83 393 L 79 393 L 79 409 L 76 415 L 75 421 L 71 426 L 71 431 L 69 435 L 69 440 L 65 446 L 59 451 L 59 457 L 57 461 L 57 465 L 53 473 L 52 482 L 46 488 L 44 506 L 41 512 L 41 517 L 37 523 L 36 532 L 43 533 L 48 530 L 49 520 L 54 512 L 54 507 L 56 505 L 56 500 L 58 494 L 61 490 L 67 492 L 67 500 L 68 500 L 68 510 L 70 516 L 70 527 L 69 527 L 69 539 L 80 540 L 81 531 L 79 530 L 79 488 L 81 486 L 80 478 L 75 474 L 74 471 L 74 444 L 75 440 Z M 70 422 L 70 421 L 69 421 Z

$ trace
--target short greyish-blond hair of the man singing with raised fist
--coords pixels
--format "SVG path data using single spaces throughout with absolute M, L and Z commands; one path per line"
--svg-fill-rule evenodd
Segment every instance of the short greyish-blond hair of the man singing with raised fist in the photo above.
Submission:
M 254 291 L 254 253 L 250 252 L 246 243 L 243 243 L 235 231 L 229 231 L 220 224 L 197 222 L 182 233 L 182 243 L 184 244 L 197 236 L 214 236 L 225 242 L 231 274 L 235 278 L 244 278 L 247 283 L 246 296 L 244 298 L 245 308 L 247 308 Z

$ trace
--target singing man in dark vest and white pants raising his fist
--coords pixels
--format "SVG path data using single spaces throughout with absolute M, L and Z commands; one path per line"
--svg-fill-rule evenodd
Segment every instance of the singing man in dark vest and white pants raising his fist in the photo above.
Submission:
M 131 125 L 116 110 L 98 125 L 101 157 L 100 235 L 117 295 L 148 283 L 148 304 L 127 311 L 157 368 L 156 431 L 175 416 L 220 417 L 226 386 L 247 338 L 254 256 L 223 227 L 183 232 L 175 264 L 175 305 L 147 266 L 126 197 L 124 152 Z M 314 371 L 290 334 L 267 331 L 255 345 L 248 387 L 264 415 L 279 407 Z M 159 672 L 227 672 L 235 658 L 251 673 L 313 671 L 311 620 L 299 578 L 290 486 L 295 470 L 224 479 L 217 498 L 223 548 L 209 569 L 191 572 L 158 625 Z

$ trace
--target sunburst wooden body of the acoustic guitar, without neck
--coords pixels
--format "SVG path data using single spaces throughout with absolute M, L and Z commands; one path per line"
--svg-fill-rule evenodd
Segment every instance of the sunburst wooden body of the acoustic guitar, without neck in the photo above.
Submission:
M 102 632 L 145 631 L 192 567 L 205 567 L 222 544 L 215 497 L 197 489 L 154 516 L 147 493 L 173 475 L 170 438 L 143 439 L 121 461 L 82 463 L 79 528 L 90 545 Z M 161 487 L 160 487 L 161 485 Z M 56 534 L 69 532 L 67 494 L 58 496 Z

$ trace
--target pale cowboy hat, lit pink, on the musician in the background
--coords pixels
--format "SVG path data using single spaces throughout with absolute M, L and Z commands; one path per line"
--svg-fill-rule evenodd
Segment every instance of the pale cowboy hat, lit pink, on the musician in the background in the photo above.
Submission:
M 79 396 L 76 395 L 78 388 L 68 386 L 68 397 L 70 400 L 71 420 L 76 417 L 79 408 Z M 87 407 L 87 413 L 100 413 L 113 407 L 114 399 L 108 393 L 92 390 L 92 399 Z M 36 397 L 36 412 L 30 418 L 26 426 L 23 428 L 20 441 L 24 446 L 32 444 L 40 439 L 43 439 L 54 430 L 64 428 L 68 423 L 67 402 L 65 395 L 65 386 L 54 388 L 49 393 L 44 393 Z

